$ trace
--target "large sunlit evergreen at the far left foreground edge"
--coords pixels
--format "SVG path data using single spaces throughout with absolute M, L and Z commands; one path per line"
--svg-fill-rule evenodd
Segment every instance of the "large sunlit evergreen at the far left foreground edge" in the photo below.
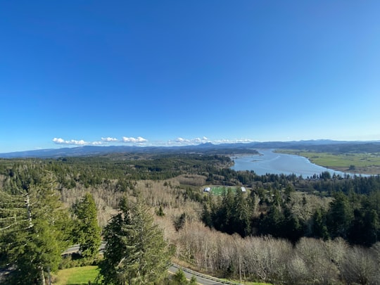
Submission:
M 25 197 L 25 212 L 20 217 L 24 222 L 1 239 L 12 269 L 6 275 L 6 284 L 45 284 L 45 272 L 58 270 L 61 253 L 68 246 L 64 230 L 69 224 L 68 213 L 59 200 L 53 175 L 47 173 L 39 184 L 26 188 L 20 191 Z

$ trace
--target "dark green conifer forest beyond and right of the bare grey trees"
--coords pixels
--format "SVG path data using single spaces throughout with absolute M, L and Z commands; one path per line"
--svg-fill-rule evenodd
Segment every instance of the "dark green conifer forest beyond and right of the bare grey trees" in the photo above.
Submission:
M 241 236 L 271 234 L 297 241 L 301 236 L 324 239 L 341 236 L 350 242 L 370 246 L 377 241 L 380 207 L 380 177 L 341 177 L 322 172 L 309 179 L 296 175 L 255 175 L 234 171 L 231 158 L 201 154 L 111 155 L 87 158 L 1 160 L 2 191 L 27 189 L 38 184 L 42 170 L 53 172 L 59 189 L 89 189 L 103 186 L 112 191 L 132 191 L 137 180 L 164 180 L 180 175 L 200 175 L 205 184 L 246 186 L 248 196 L 230 193 L 220 201 L 191 191 L 189 197 L 203 203 L 203 220 L 209 227 Z M 203 186 L 202 183 L 197 186 Z M 303 217 L 294 208 L 311 208 Z M 312 195 L 311 195 L 312 194 Z M 310 197 L 319 197 L 311 201 Z M 330 201 L 328 198 L 334 201 Z M 325 202 L 323 202 L 325 201 Z M 225 216 L 227 215 L 227 216 Z M 340 229 L 338 225 L 346 224 Z M 327 232 L 323 232 L 324 228 Z M 355 232 L 367 234 L 355 234 Z M 322 231 L 322 232 L 321 232 Z M 362 236 L 365 236 L 363 238 Z

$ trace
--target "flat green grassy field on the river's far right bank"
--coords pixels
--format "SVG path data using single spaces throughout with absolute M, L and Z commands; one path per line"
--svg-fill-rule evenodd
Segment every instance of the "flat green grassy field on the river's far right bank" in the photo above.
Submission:
M 289 153 L 304 156 L 312 163 L 343 172 L 362 174 L 380 174 L 380 153 L 316 153 L 291 149 L 277 150 L 278 153 Z

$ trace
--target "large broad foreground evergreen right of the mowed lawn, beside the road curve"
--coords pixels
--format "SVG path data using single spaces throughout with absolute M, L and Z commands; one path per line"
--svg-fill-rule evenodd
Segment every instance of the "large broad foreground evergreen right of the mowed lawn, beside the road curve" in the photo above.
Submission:
M 167 272 L 170 254 L 163 232 L 141 201 L 120 202 L 120 213 L 106 226 L 103 284 L 153 284 Z

